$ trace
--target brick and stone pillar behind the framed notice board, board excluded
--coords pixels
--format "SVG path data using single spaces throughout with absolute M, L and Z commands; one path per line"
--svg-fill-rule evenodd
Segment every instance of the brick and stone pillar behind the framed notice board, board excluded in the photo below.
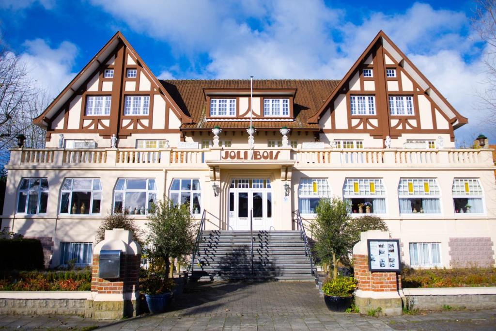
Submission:
M 389 239 L 388 232 L 371 230 L 362 232 L 360 241 L 353 247 L 353 271 L 358 281 L 355 306 L 360 313 L 380 308 L 383 315 L 401 315 L 401 275 L 396 272 L 371 272 L 367 239 Z

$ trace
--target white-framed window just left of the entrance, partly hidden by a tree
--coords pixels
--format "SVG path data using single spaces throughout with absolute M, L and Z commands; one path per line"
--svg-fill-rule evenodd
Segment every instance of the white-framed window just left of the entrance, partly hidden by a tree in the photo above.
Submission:
M 173 179 L 170 197 L 175 204 L 188 203 L 193 214 L 199 214 L 201 211 L 201 189 L 197 179 Z

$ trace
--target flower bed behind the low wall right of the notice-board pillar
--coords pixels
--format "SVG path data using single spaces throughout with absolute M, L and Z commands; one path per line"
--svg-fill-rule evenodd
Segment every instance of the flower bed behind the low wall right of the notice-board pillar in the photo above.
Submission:
M 434 268 L 401 271 L 403 288 L 496 286 L 496 268 Z

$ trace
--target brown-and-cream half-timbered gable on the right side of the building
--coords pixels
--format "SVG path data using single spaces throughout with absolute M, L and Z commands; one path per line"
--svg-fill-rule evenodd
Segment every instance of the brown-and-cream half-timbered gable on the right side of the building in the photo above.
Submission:
M 328 140 L 358 134 L 368 147 L 393 139 L 443 138 L 454 146 L 453 129 L 467 123 L 424 75 L 381 31 L 310 122 L 318 121 Z

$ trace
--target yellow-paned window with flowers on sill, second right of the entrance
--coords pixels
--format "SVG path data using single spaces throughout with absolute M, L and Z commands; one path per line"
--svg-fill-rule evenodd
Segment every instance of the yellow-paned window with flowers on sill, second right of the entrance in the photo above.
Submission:
M 351 202 L 353 214 L 386 213 L 386 191 L 382 179 L 347 178 L 343 186 L 343 197 Z M 368 208 L 367 208 L 368 206 Z

